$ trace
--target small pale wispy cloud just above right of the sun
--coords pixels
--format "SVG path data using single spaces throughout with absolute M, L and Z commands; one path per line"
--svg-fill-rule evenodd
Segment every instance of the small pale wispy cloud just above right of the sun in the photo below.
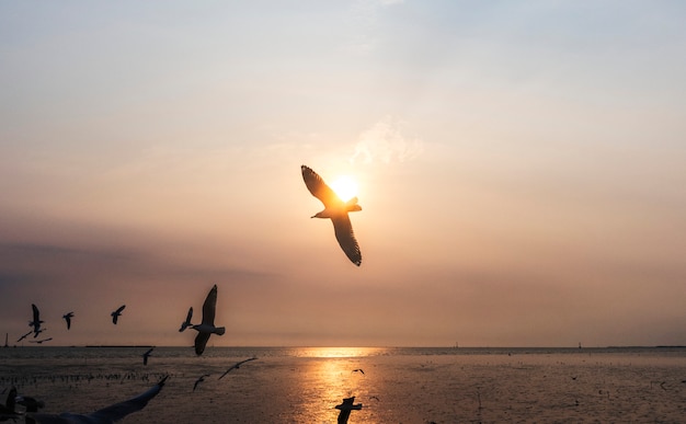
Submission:
M 421 154 L 424 146 L 419 138 L 409 138 L 402 122 L 387 116 L 371 128 L 363 131 L 355 145 L 351 163 L 391 163 L 412 160 Z

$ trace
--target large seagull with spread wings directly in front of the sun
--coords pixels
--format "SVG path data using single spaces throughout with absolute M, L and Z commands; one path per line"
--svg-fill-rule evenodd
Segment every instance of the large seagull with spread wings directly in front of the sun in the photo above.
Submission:
M 307 190 L 324 204 L 324 210 L 317 213 L 312 218 L 331 219 L 333 231 L 341 249 L 355 265 L 359 266 L 362 253 L 359 252 L 357 240 L 355 240 L 351 219 L 347 216 L 350 211 L 362 210 L 362 207 L 357 205 L 357 197 L 343 202 L 317 172 L 306 165 L 301 165 L 300 170 L 302 171 L 302 180 Z

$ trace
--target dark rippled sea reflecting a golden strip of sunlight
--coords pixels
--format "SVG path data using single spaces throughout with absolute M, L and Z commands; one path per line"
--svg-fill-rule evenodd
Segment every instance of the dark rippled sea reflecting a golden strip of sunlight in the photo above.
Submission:
M 0 348 L 0 392 L 88 414 L 168 376 L 124 423 L 336 423 L 346 398 L 348 423 L 686 422 L 684 346 L 148 348 Z

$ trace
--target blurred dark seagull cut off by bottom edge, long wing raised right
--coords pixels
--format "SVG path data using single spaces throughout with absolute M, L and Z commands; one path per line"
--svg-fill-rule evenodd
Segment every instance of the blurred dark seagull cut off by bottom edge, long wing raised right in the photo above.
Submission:
M 152 400 L 152 398 L 155 398 L 160 392 L 160 390 L 162 390 L 162 387 L 164 387 L 164 382 L 168 378 L 169 376 L 165 376 L 160 380 L 160 382 L 135 398 L 132 398 L 124 402 L 115 403 L 107 408 L 103 408 L 102 410 L 98 410 L 88 415 L 64 412 L 59 415 L 33 414 L 33 417 L 34 420 L 36 420 L 37 423 L 47 424 L 111 424 L 124 419 L 128 414 L 146 408 L 148 402 Z

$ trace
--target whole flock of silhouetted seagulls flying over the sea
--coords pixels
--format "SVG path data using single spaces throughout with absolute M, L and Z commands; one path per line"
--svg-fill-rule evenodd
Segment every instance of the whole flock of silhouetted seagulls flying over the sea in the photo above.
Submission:
M 339 245 L 341 247 L 345 255 L 350 259 L 350 261 L 359 266 L 362 264 L 362 252 L 359 250 L 359 244 L 355 239 L 353 226 L 347 215 L 351 211 L 362 210 L 362 207 L 357 204 L 357 197 L 354 197 L 347 202 L 343 202 L 334 193 L 334 191 L 329 187 L 327 183 L 324 183 L 321 176 L 319 176 L 319 174 L 317 174 L 310 168 L 301 165 L 300 170 L 302 173 L 302 180 L 305 181 L 305 185 L 307 186 L 309 192 L 319 200 L 321 200 L 321 203 L 324 205 L 324 209 L 315 214 L 311 218 L 331 219 Z M 181 328 L 179 329 L 179 332 L 184 332 L 188 328 L 197 331 L 197 335 L 195 336 L 194 341 L 194 349 L 197 356 L 203 354 L 205 347 L 207 346 L 207 342 L 213 334 L 222 335 L 226 332 L 226 329 L 224 326 L 215 325 L 216 306 L 217 285 L 214 285 L 207 294 L 205 302 L 203 303 L 203 319 L 201 323 L 192 323 L 193 308 L 191 307 L 188 309 L 185 320 L 181 323 Z M 28 325 L 32 329 L 27 333 L 23 334 L 16 342 L 19 343 L 23 341 L 32 333 L 33 339 L 36 339 L 30 341 L 32 343 L 42 344 L 52 341 L 53 337 L 38 339 L 38 335 L 41 335 L 47 329 L 43 328 L 42 325 L 45 321 L 41 320 L 41 311 L 38 310 L 36 305 L 32 303 L 31 307 L 33 310 L 33 319 L 28 322 Z M 126 305 L 122 305 L 111 313 L 113 324 L 117 324 L 125 308 Z M 71 329 L 71 320 L 73 319 L 73 311 L 67 312 L 62 316 L 62 319 L 66 321 L 67 324 L 67 330 Z M 148 359 L 152 355 L 153 349 L 155 346 L 150 347 L 147 352 L 142 354 L 144 365 L 148 364 Z M 236 363 L 230 368 L 228 368 L 219 377 L 219 379 L 222 379 L 231 370 L 240 368 L 240 366 L 244 363 L 255 359 L 258 358 L 251 357 Z M 364 374 L 362 369 L 353 370 L 353 373 L 355 371 Z M 202 375 L 194 382 L 193 391 L 197 389 L 198 385 L 202 383 L 206 377 L 209 377 L 209 374 Z M 103 408 L 88 415 L 72 413 L 61 413 L 59 415 L 39 414 L 37 413 L 37 411 L 39 408 L 43 408 L 43 402 L 36 401 L 35 399 L 28 397 L 19 397 L 16 394 L 16 389 L 12 388 L 8 394 L 5 404 L 0 404 L 0 421 L 16 420 L 18 417 L 20 417 L 21 413 L 15 411 L 15 405 L 22 404 L 26 408 L 27 414 L 25 415 L 25 420 L 27 423 L 114 423 L 133 412 L 144 409 L 146 404 L 160 392 L 168 378 L 169 376 L 163 377 L 152 388 L 135 398 Z M 353 405 L 353 400 L 354 398 L 345 399 L 341 405 L 335 406 L 336 409 L 341 410 L 339 422 L 346 422 L 351 410 L 358 410 L 362 408 L 362 404 Z M 345 416 L 345 421 L 341 421 L 343 416 Z

